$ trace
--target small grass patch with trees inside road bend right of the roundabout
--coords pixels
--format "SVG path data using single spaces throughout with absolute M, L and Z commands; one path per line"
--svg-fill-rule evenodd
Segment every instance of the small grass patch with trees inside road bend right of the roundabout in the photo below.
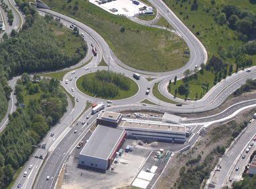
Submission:
M 196 93 L 198 93 L 198 99 L 202 98 L 206 91 L 204 90 L 204 84 L 207 85 L 207 81 L 213 81 L 214 80 L 214 73 L 211 71 L 206 71 L 204 70 L 204 74 L 201 75 L 200 73 L 198 74 L 198 79 L 192 79 L 189 82 L 189 94 L 188 98 L 191 100 L 194 100 L 196 98 Z M 178 90 L 178 87 L 182 84 L 185 84 L 184 81 L 179 80 L 176 82 L 176 85 L 172 82 L 171 84 L 171 93 L 174 95 L 175 89 Z M 213 82 L 209 83 L 208 89 L 210 89 L 213 86 Z M 179 93 L 177 93 L 177 98 L 182 98 L 185 99 L 185 96 L 181 96 Z

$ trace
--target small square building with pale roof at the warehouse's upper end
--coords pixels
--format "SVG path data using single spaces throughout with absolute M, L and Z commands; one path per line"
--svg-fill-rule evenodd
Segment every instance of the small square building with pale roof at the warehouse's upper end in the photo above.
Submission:
M 121 122 L 123 114 L 117 112 L 101 112 L 97 118 L 97 125 L 117 127 Z

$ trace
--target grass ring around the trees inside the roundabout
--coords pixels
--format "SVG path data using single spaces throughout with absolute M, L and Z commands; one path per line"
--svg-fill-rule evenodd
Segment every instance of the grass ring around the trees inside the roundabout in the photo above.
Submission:
M 103 97 L 97 97 L 94 93 L 90 93 L 89 91 L 86 91 L 84 89 L 84 87 L 82 87 L 82 81 L 84 80 L 84 78 L 94 78 L 96 73 L 88 73 L 86 75 L 82 75 L 82 77 L 79 77 L 76 81 L 76 86 L 78 87 L 78 89 L 80 91 L 82 91 L 83 93 L 86 93 L 86 95 L 88 96 L 92 96 L 95 98 L 103 98 Z M 127 79 L 129 79 L 127 77 Z M 135 81 L 133 81 L 132 79 L 129 79 L 131 81 L 131 85 L 130 85 L 130 89 L 128 91 L 122 90 L 119 88 L 119 95 L 116 96 L 115 98 L 103 98 L 103 99 L 108 99 L 108 100 L 120 100 L 120 99 L 125 99 L 125 98 L 129 98 L 131 96 L 134 96 L 135 93 L 137 93 L 139 87 L 137 85 L 137 83 L 135 83 Z

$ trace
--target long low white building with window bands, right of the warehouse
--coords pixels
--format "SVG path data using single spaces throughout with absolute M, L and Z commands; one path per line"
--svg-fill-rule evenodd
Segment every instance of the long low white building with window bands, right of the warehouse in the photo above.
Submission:
M 186 127 L 182 125 L 126 119 L 119 124 L 119 128 L 124 129 L 127 132 L 127 136 L 131 138 L 148 138 L 177 143 L 186 141 Z

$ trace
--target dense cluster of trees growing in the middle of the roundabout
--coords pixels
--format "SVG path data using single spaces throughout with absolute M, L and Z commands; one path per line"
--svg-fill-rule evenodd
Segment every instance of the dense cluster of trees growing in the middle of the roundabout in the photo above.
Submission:
M 93 77 L 84 77 L 82 87 L 97 97 L 115 98 L 119 89 L 129 90 L 131 81 L 120 73 L 97 71 Z

